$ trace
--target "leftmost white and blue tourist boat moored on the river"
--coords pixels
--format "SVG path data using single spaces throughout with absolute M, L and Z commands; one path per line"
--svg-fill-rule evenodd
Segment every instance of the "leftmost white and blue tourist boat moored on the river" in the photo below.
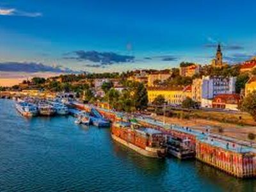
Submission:
M 17 102 L 16 109 L 23 116 L 35 116 L 38 114 L 38 109 L 34 104 L 30 104 L 27 102 Z

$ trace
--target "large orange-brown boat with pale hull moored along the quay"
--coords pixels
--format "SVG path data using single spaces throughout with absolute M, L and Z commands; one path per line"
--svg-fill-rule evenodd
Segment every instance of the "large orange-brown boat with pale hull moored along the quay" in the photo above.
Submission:
M 165 136 L 156 129 L 140 127 L 130 122 L 115 122 L 111 127 L 113 140 L 147 157 L 163 158 Z

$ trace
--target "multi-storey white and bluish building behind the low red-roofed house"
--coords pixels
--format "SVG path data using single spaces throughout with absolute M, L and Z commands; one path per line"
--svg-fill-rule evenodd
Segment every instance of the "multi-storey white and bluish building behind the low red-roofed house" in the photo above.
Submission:
M 233 94 L 236 92 L 236 77 L 203 76 L 202 99 L 203 108 L 211 108 L 211 100 L 220 94 Z

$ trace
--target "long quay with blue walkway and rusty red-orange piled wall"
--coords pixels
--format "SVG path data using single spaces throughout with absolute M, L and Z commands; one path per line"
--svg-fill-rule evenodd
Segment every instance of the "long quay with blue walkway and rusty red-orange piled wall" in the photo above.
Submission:
M 80 107 L 84 110 L 92 108 L 84 104 Z M 102 108 L 97 108 L 97 110 L 112 121 L 125 118 L 124 113 Z M 256 148 L 251 147 L 249 142 L 209 132 L 195 131 L 189 127 L 163 124 L 150 118 L 136 117 L 136 120 L 142 125 L 147 125 L 175 138 L 191 140 L 196 159 L 205 164 L 214 166 L 234 177 L 256 177 Z

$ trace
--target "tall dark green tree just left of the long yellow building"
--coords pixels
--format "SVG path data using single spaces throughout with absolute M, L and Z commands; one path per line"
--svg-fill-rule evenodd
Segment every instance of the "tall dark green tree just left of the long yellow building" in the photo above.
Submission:
M 143 83 L 138 83 L 138 86 L 135 88 L 134 92 L 134 106 L 136 110 L 140 111 L 147 109 L 148 105 L 148 94 L 147 89 Z

